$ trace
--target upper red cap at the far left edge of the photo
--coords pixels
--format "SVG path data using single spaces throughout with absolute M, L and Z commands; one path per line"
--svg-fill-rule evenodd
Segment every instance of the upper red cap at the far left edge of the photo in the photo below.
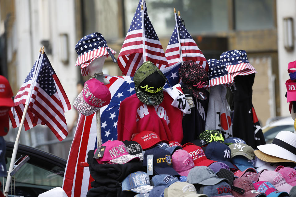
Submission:
M 0 75 L 0 106 L 13 107 L 13 92 L 8 80 Z

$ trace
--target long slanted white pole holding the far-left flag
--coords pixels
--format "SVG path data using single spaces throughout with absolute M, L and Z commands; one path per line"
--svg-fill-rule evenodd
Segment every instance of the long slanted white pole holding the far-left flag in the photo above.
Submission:
M 7 178 L 6 178 L 5 190 L 4 190 L 4 195 L 6 197 L 8 196 L 8 191 L 9 191 L 10 182 L 11 182 L 10 172 L 14 168 L 14 162 L 15 162 L 16 154 L 17 154 L 18 147 L 19 147 L 19 137 L 21 135 L 22 127 L 23 127 L 23 124 L 25 122 L 25 117 L 26 117 L 26 114 L 27 114 L 27 111 L 28 111 L 28 104 L 29 104 L 29 100 L 30 100 L 30 97 L 31 97 L 31 94 L 32 94 L 32 91 L 33 91 L 33 84 L 34 84 L 34 81 L 36 80 L 36 76 L 37 76 L 36 71 L 39 70 L 39 68 L 40 68 L 38 60 L 40 58 L 41 50 L 42 50 L 42 54 L 43 54 L 44 53 L 44 46 L 43 46 L 42 49 L 40 48 L 40 50 L 39 50 L 38 58 L 37 58 L 36 64 L 35 64 L 35 70 L 34 70 L 34 74 L 33 74 L 32 84 L 30 86 L 30 91 L 29 91 L 29 94 L 28 94 L 28 97 L 27 97 L 27 100 L 26 100 L 26 104 L 25 104 L 25 108 L 24 108 L 24 111 L 23 111 L 22 119 L 21 119 L 21 122 L 20 122 L 20 125 L 19 125 L 19 131 L 18 131 L 18 134 L 17 134 L 15 142 L 14 142 L 14 147 L 13 147 L 13 151 L 12 151 L 12 155 L 11 155 L 10 166 L 9 166 L 8 175 L 7 175 Z

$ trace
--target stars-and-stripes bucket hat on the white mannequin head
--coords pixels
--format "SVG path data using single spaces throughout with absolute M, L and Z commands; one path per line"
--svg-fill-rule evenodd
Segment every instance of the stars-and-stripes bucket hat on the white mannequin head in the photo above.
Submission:
M 116 51 L 108 47 L 105 38 L 98 32 L 88 34 L 77 42 L 75 50 L 78 58 L 75 66 L 80 66 L 82 76 L 88 75 L 87 66 L 94 59 L 102 56 L 106 56 L 107 58 L 109 56 L 107 49 L 110 49 L 113 54 L 116 53 Z

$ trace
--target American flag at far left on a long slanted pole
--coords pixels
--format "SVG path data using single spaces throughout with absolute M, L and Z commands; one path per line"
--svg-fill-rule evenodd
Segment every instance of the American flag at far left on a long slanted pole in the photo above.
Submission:
M 31 86 L 33 87 L 30 94 Z M 24 123 L 25 130 L 43 124 L 47 125 L 60 141 L 66 138 L 68 128 L 64 112 L 70 110 L 71 105 L 45 53 L 39 54 L 38 60 L 14 97 L 14 107 L 9 113 L 13 128 L 19 126 L 26 102 L 29 107 Z

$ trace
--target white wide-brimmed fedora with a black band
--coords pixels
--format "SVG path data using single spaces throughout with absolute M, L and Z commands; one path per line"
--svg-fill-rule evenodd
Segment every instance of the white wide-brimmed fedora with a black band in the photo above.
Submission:
M 291 131 L 281 131 L 271 144 L 257 146 L 267 155 L 296 162 L 296 135 Z

